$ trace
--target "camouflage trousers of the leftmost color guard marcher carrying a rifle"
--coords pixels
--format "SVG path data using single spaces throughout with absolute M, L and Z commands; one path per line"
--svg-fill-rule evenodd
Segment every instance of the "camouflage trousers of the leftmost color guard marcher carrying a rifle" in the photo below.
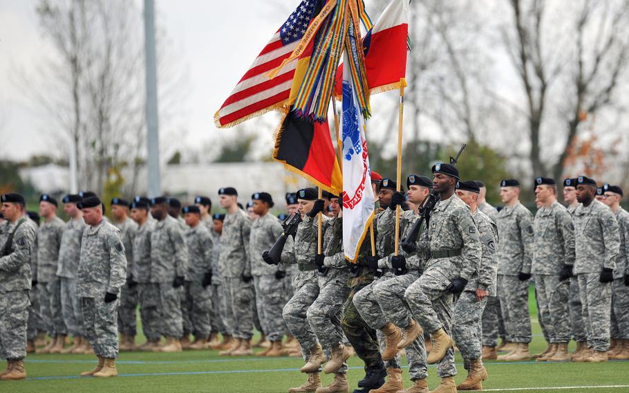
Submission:
M 306 319 L 308 307 L 317 300 L 319 296 L 319 283 L 317 279 L 306 281 L 301 287 L 295 289 L 295 294 L 286 303 L 282 310 L 282 316 L 286 327 L 290 333 L 297 338 L 301 346 L 303 359 L 308 361 L 312 347 L 317 344 L 315 331 L 310 327 Z

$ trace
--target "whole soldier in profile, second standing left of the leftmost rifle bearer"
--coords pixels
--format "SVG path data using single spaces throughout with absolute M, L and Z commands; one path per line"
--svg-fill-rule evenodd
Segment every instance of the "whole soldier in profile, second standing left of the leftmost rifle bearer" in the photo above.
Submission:
M 254 285 L 251 275 L 249 239 L 251 221 L 238 208 L 238 192 L 232 187 L 218 190 L 220 207 L 227 210 L 220 239 L 218 273 L 223 280 L 226 325 L 233 336 L 232 347 L 220 351 L 223 356 L 253 354 L 250 340 L 254 328 Z

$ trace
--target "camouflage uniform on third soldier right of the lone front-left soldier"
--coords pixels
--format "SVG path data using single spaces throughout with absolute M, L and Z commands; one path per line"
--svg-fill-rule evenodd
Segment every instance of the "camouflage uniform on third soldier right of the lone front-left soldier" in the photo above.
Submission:
M 158 285 L 158 310 L 162 336 L 183 335 L 183 287 L 173 287 L 175 277 L 185 277 L 188 251 L 179 221 L 167 215 L 151 232 L 151 283 Z

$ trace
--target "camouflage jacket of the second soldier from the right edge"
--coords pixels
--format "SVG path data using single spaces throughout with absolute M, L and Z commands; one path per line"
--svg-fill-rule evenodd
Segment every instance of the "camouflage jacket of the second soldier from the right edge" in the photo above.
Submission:
M 616 268 L 620 249 L 618 221 L 610 208 L 599 201 L 579 206 L 574 220 L 576 260 L 572 273 L 599 273 Z

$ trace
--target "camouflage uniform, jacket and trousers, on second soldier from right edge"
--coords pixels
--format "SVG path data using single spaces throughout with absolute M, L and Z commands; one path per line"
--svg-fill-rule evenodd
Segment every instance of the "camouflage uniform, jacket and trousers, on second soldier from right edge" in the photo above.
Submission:
M 610 208 L 599 201 L 574 211 L 576 260 L 572 273 L 579 279 L 588 347 L 607 351 L 610 341 L 612 283 L 599 281 L 603 268 L 616 268 L 619 226 Z

